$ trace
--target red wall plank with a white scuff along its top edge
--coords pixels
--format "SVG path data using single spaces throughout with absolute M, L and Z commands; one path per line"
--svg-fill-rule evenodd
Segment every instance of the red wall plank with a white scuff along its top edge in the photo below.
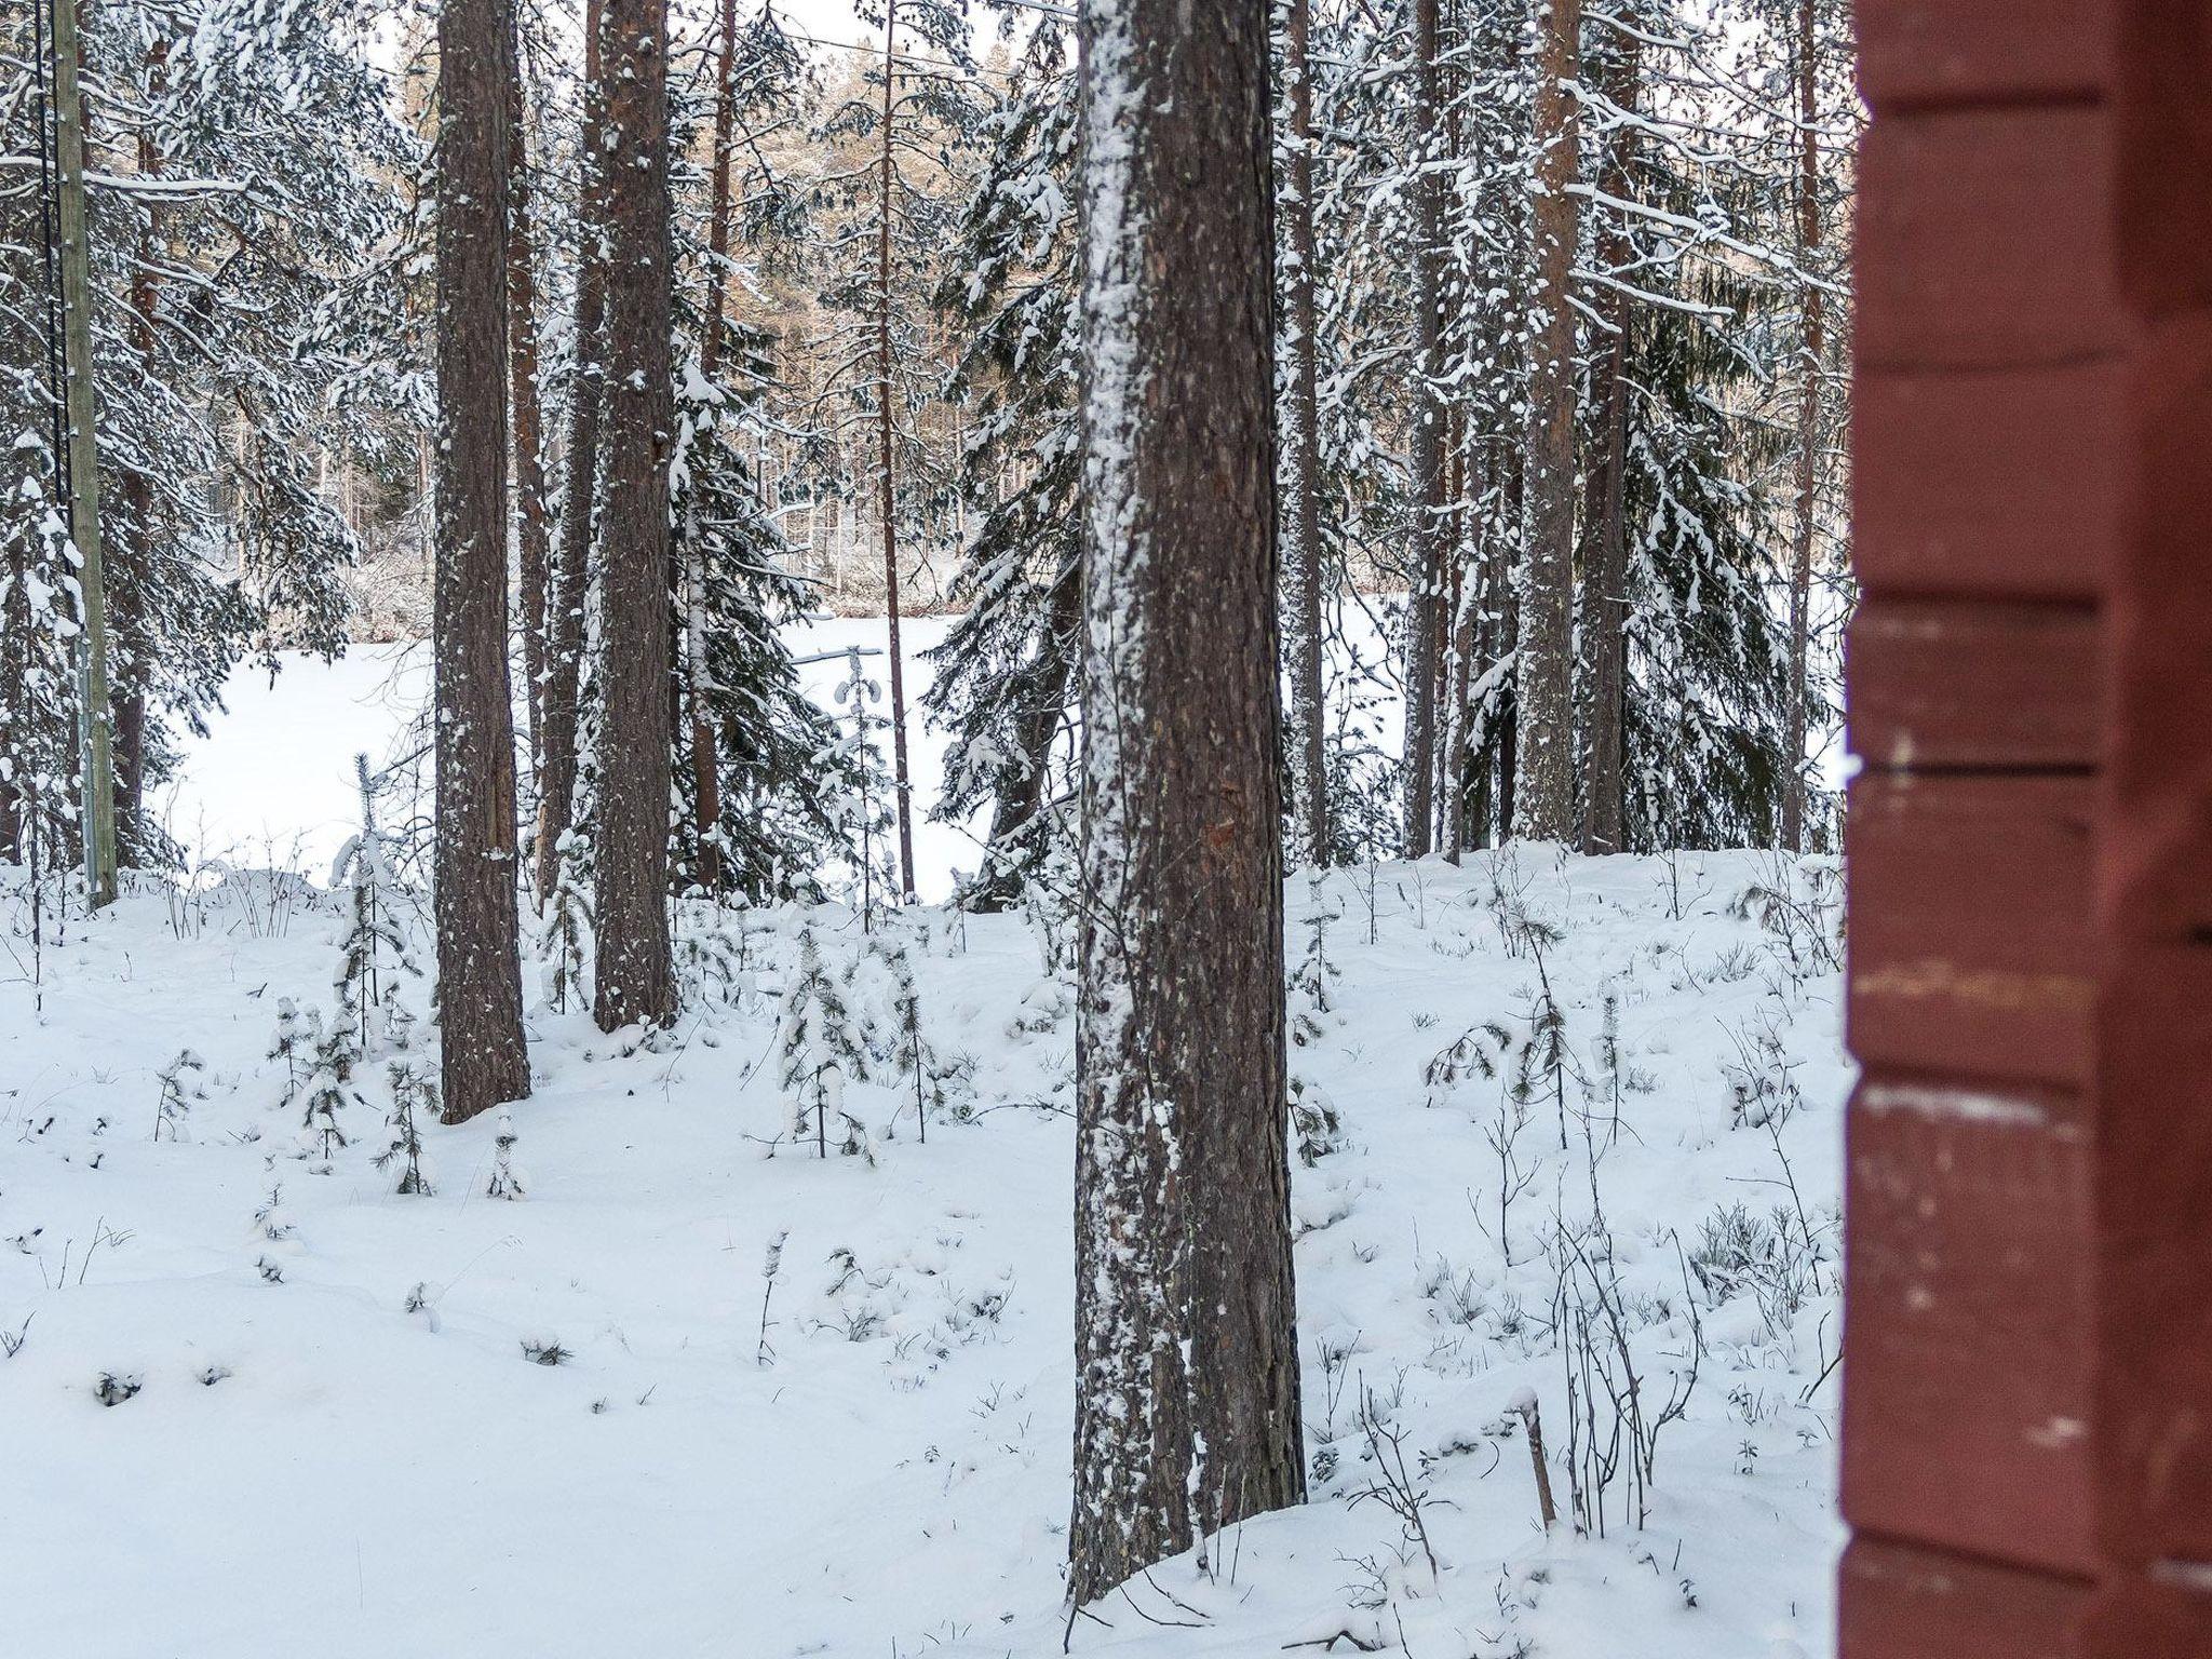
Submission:
M 2084 1117 L 2057 1091 L 1885 1073 L 1858 1086 L 1843 1332 L 1854 1526 L 2090 1571 Z

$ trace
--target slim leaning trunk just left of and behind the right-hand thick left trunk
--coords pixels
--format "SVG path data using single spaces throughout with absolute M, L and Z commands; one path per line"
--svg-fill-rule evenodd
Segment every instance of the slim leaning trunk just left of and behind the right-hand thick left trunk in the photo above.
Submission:
M 538 714 L 538 900 L 560 883 L 560 838 L 575 814 L 577 690 L 593 509 L 599 498 L 599 405 L 606 394 L 606 75 L 602 0 L 584 4 L 584 155 L 577 192 L 575 376 L 568 394 L 568 473 L 553 586 L 546 597 L 546 684 Z

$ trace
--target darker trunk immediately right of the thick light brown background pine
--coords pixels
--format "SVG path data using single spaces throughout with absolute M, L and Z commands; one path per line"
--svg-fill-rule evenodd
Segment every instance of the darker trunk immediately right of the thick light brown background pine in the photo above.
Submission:
M 1641 51 L 1632 35 L 1615 33 L 1606 93 L 1615 106 L 1635 113 L 1641 82 Z M 1608 197 L 1630 199 L 1628 153 L 1632 128 L 1606 137 L 1599 188 Z M 1601 270 L 1621 270 L 1632 257 L 1619 215 L 1604 221 L 1597 239 Z M 1590 467 L 1590 507 L 1586 520 L 1588 568 L 1582 575 L 1582 661 L 1584 661 L 1584 823 L 1586 854 L 1621 852 L 1626 836 L 1626 737 L 1628 714 L 1628 524 L 1624 515 L 1628 489 L 1628 334 L 1635 321 L 1628 296 L 1606 288 L 1597 296 L 1613 334 L 1606 336 L 1604 363 L 1593 369 L 1597 380 L 1597 458 Z

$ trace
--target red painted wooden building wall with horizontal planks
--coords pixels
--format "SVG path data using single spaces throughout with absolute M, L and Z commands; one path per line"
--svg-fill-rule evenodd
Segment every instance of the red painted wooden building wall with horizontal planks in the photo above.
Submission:
M 1858 20 L 1843 1655 L 2212 1655 L 2212 0 Z

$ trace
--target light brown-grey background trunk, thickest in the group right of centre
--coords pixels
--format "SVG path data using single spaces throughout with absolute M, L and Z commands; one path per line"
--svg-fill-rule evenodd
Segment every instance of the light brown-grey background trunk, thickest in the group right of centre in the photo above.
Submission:
M 1528 438 L 1522 478 L 1520 710 L 1515 834 L 1575 834 L 1575 268 L 1579 173 L 1575 97 L 1582 0 L 1548 0 L 1535 69 L 1535 292 L 1528 330 Z

